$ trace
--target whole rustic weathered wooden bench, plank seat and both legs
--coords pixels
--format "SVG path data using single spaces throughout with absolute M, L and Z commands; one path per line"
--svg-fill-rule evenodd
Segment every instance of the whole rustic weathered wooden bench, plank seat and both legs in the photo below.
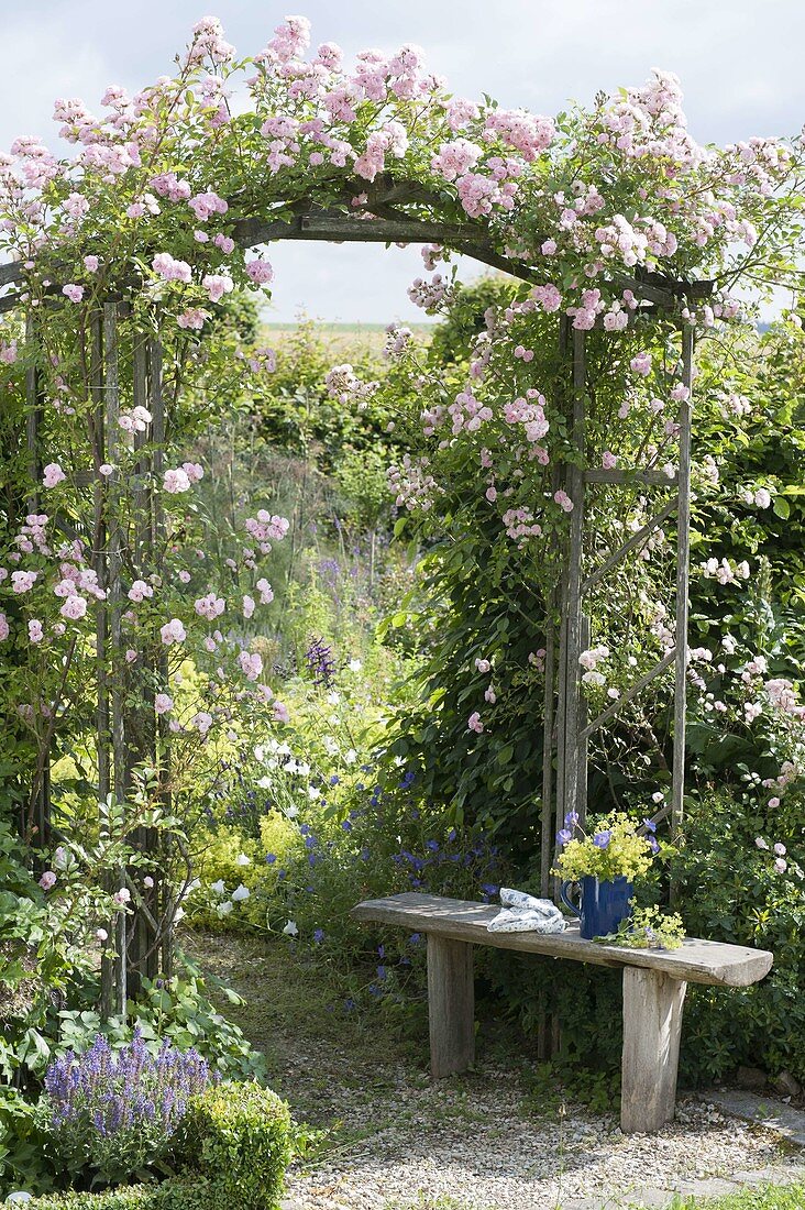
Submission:
M 672 951 L 599 945 L 579 935 L 577 922 L 551 935 L 489 933 L 487 923 L 498 911 L 494 904 L 412 892 L 367 899 L 352 909 L 352 916 L 427 934 L 431 1072 L 436 1079 L 466 1071 L 475 1061 L 473 945 L 622 968 L 621 1127 L 627 1133 L 660 1130 L 674 1116 L 686 985 L 746 987 L 763 979 L 774 960 L 765 950 L 695 938 L 686 938 Z

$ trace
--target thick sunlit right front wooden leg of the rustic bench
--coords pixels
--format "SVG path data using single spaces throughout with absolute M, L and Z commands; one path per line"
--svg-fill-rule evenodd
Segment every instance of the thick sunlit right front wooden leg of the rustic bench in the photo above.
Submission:
M 621 1129 L 661 1130 L 674 1116 L 686 984 L 660 970 L 623 968 Z

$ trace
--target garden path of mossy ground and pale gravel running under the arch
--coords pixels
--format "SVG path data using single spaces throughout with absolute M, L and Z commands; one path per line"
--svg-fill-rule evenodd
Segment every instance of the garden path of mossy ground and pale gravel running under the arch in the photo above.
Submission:
M 272 1087 L 326 1131 L 289 1174 L 288 1210 L 616 1210 L 666 1206 L 673 1189 L 726 1192 L 732 1177 L 805 1183 L 805 1152 L 784 1154 L 766 1129 L 698 1100 L 682 1099 L 654 1136 L 541 1101 L 523 1041 L 489 1025 L 476 1070 L 432 1084 L 425 1027 L 406 1041 L 379 1014 L 344 1016 L 318 973 L 276 946 L 231 934 L 200 944 L 205 967 L 249 998 L 234 1015 Z

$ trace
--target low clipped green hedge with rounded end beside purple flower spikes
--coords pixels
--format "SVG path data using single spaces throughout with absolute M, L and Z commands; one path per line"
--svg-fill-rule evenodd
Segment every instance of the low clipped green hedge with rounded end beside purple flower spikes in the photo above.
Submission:
M 291 1110 L 259 1084 L 194 1096 L 177 1131 L 180 1171 L 161 1185 L 48 1193 L 24 1210 L 277 1210 L 293 1152 Z

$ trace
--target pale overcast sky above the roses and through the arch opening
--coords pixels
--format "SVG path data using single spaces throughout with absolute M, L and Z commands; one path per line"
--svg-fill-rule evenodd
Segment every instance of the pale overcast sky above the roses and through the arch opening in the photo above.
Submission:
M 0 148 L 18 134 L 54 142 L 56 97 L 90 108 L 109 83 L 134 91 L 172 70 L 190 28 L 213 13 L 240 54 L 259 51 L 288 11 L 314 42 L 425 48 L 450 90 L 554 114 L 569 99 L 675 71 L 692 134 L 725 143 L 793 134 L 805 121 L 805 0 L 0 0 L 4 62 Z M 274 313 L 329 321 L 421 319 L 406 288 L 416 249 L 275 246 Z

